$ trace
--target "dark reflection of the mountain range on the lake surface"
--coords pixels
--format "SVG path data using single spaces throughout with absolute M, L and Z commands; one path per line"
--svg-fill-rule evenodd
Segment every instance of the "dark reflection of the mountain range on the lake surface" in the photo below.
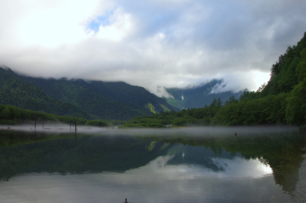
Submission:
M 14 133 L 1 136 L 0 178 L 10 178 L 17 173 L 84 173 L 116 171 L 145 166 L 159 156 L 165 164 L 196 164 L 212 171 L 223 171 L 218 157 L 231 159 L 230 153 L 216 155 L 211 149 L 182 144 L 162 144 L 151 139 L 132 136 L 92 136 L 73 134 L 42 136 L 37 133 Z M 10 147 L 6 147 L 10 146 Z M 184 157 L 182 153 L 184 152 Z M 184 158 L 184 159 L 183 159 Z

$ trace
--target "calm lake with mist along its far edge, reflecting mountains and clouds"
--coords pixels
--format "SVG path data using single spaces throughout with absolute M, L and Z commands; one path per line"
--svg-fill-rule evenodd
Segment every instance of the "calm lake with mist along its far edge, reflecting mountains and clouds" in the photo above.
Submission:
M 1 203 L 290 202 L 306 146 L 295 127 L 10 127 Z

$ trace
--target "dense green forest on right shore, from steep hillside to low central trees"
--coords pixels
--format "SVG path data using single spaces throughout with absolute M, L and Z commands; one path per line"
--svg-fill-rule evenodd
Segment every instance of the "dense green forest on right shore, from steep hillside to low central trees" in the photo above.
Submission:
M 290 124 L 305 129 L 306 124 L 306 32 L 295 46 L 271 67 L 271 78 L 255 91 L 244 91 L 222 102 L 215 98 L 203 108 L 166 111 L 153 116 L 134 117 L 126 127 L 147 123 L 196 125 Z

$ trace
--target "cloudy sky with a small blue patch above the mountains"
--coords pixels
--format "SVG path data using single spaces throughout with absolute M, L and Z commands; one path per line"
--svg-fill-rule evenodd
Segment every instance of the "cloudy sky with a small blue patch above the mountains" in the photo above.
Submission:
M 0 66 L 33 77 L 257 90 L 306 31 L 305 0 L 4 0 Z

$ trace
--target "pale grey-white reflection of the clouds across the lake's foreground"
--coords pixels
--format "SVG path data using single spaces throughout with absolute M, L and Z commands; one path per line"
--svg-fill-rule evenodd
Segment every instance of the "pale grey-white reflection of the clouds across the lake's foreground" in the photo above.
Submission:
M 207 202 L 243 197 L 246 192 L 281 193 L 273 178 L 267 176 L 271 170 L 259 160 L 214 158 L 215 163 L 228 167 L 224 172 L 213 172 L 196 164 L 167 164 L 173 157 L 159 156 L 144 167 L 124 173 L 16 176 L 0 184 L 0 202 L 123 202 L 125 198 L 134 203 Z

